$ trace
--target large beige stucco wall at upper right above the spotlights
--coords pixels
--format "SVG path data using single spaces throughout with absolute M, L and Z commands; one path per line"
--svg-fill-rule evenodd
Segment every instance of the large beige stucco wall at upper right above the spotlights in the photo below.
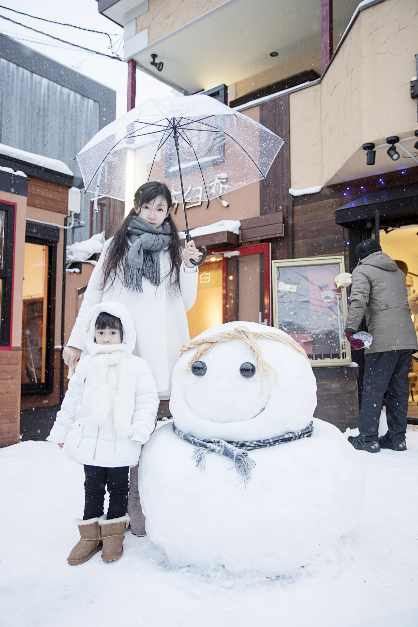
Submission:
M 417 127 L 417 102 L 409 95 L 417 8 L 416 0 L 385 0 L 362 11 L 321 83 L 290 95 L 292 187 L 412 165 L 379 149 L 376 166 L 368 167 L 361 147 L 413 135 Z

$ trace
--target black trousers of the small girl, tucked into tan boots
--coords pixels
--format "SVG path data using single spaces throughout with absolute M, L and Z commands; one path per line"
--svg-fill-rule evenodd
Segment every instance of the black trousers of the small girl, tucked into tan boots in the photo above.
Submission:
M 105 486 L 110 495 L 107 519 L 120 518 L 127 512 L 129 466 L 103 468 L 102 466 L 84 465 L 86 480 L 85 506 L 83 520 L 90 520 L 103 515 Z

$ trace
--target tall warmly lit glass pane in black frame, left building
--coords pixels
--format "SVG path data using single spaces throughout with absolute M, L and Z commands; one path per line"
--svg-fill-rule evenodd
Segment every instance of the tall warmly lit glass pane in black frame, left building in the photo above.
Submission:
M 22 383 L 46 380 L 49 246 L 24 245 Z

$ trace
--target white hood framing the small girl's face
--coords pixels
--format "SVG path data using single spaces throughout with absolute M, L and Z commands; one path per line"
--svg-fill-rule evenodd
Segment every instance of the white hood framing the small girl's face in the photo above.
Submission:
M 115 317 L 120 318 L 123 329 L 122 344 L 96 344 L 96 320 L 98 315 L 102 312 L 107 312 L 107 314 L 112 314 Z M 125 307 L 125 305 L 112 301 L 98 303 L 90 309 L 83 320 L 83 337 L 86 349 L 90 355 L 97 355 L 98 353 L 111 353 L 115 350 L 124 350 L 126 357 L 129 357 L 132 354 L 137 339 L 133 318 L 128 308 Z

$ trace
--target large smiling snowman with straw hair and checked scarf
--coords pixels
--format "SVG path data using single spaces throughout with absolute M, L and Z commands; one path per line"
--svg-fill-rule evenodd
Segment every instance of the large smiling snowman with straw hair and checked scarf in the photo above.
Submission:
M 310 362 L 281 330 L 229 322 L 183 347 L 174 424 L 150 437 L 139 472 L 147 535 L 171 564 L 278 575 L 353 528 L 360 458 L 315 407 Z

